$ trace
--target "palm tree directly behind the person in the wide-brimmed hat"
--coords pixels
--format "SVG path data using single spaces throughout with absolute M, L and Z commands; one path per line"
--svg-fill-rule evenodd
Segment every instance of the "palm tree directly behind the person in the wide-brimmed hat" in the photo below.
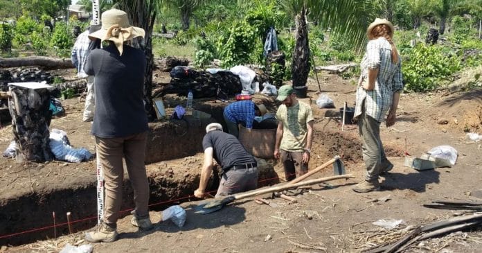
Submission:
M 147 60 L 144 78 L 145 111 L 150 121 L 156 118 L 154 104 L 152 103 L 152 71 L 154 69 L 154 55 L 152 55 L 152 28 L 159 10 L 160 1 L 156 0 L 113 0 L 114 8 L 124 10 L 130 16 L 132 24 L 145 30 L 145 37 L 136 38 L 133 45 L 142 49 Z

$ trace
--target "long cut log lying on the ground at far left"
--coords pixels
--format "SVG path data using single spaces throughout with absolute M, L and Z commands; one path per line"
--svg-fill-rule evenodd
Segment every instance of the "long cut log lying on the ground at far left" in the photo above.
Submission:
M 42 69 L 73 69 L 70 59 L 50 58 L 46 56 L 28 56 L 21 58 L 0 58 L 0 67 L 30 67 L 38 66 Z

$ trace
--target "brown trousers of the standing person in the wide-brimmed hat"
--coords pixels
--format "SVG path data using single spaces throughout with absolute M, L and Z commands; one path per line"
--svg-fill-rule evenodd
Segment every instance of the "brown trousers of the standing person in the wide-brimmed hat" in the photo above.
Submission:
M 149 216 L 149 182 L 144 165 L 147 134 L 143 132 L 122 138 L 96 137 L 97 155 L 102 164 L 105 180 L 105 223 L 116 224 L 120 205 L 123 202 L 123 157 L 134 189 L 135 214 L 139 218 Z

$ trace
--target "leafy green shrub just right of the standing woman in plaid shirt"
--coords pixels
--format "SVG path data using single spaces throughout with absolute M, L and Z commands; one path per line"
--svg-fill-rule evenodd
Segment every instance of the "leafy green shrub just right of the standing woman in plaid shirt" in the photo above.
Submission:
M 417 44 L 404 55 L 402 73 L 406 91 L 429 91 L 461 69 L 461 60 L 443 46 Z

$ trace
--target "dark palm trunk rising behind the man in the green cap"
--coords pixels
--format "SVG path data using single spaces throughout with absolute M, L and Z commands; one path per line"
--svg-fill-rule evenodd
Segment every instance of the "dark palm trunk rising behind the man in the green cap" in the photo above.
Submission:
M 308 28 L 306 10 L 303 8 L 296 15 L 296 45 L 293 52 L 292 78 L 293 86 L 305 86 L 310 73 L 310 46 L 308 44 Z

